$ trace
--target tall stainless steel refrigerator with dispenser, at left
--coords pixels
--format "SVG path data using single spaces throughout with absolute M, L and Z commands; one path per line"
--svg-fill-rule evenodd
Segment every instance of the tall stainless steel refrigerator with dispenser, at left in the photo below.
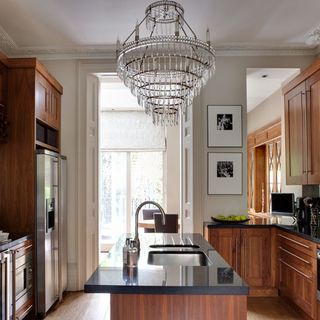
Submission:
M 57 153 L 38 150 L 36 157 L 36 303 L 45 316 L 67 286 L 67 168 Z

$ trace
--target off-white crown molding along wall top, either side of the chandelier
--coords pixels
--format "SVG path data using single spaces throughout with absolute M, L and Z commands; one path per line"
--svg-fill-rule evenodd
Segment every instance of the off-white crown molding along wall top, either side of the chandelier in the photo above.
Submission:
M 252 43 L 218 44 L 217 57 L 232 56 L 317 56 L 320 46 L 256 45 Z M 115 45 L 75 47 L 17 47 L 14 41 L 0 27 L 0 50 L 10 58 L 37 57 L 41 60 L 68 59 L 115 59 Z

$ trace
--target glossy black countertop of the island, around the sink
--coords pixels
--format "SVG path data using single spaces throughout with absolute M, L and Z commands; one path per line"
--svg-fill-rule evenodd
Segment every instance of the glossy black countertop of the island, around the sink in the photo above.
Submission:
M 137 268 L 123 267 L 123 235 L 84 286 L 88 293 L 247 295 L 248 285 L 200 234 L 145 233 L 139 236 Z M 156 266 L 148 264 L 152 244 L 198 245 L 210 259 L 209 266 Z M 186 249 L 184 249 L 186 250 Z

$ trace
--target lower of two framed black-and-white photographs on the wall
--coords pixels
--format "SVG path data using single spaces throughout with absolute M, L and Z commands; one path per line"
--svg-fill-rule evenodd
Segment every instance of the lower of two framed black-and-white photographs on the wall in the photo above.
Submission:
M 242 153 L 208 153 L 208 194 L 242 194 Z

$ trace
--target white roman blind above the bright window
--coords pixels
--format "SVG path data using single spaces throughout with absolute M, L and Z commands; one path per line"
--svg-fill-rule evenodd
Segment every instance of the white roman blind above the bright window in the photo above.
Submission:
M 165 129 L 143 111 L 101 111 L 100 149 L 165 150 Z

